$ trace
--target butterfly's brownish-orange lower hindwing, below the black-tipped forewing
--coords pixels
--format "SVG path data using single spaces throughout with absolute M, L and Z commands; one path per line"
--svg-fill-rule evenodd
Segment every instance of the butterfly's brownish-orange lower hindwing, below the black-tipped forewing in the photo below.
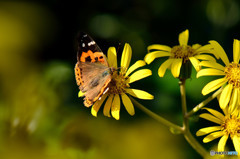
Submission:
M 91 106 L 98 100 L 107 89 L 111 81 L 111 70 L 109 67 L 99 63 L 77 63 L 75 71 L 79 71 L 81 84 L 80 90 L 85 92 L 84 105 Z M 77 77 L 76 77 L 77 78 Z

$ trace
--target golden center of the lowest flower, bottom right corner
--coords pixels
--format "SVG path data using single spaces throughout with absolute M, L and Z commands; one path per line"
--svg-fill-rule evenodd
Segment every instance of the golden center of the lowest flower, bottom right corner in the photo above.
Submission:
M 240 135 L 240 119 L 237 119 L 236 116 L 226 118 L 222 127 L 228 135 Z

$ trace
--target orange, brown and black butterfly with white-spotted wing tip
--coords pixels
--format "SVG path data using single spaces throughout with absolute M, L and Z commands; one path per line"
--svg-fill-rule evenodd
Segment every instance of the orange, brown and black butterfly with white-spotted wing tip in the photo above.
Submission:
M 106 56 L 88 34 L 80 33 L 77 42 L 75 78 L 84 93 L 84 105 L 90 107 L 109 90 L 114 68 L 109 67 Z

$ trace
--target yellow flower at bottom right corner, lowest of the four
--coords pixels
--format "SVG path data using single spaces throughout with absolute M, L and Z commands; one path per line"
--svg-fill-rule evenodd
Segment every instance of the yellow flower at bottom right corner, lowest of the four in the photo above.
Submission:
M 232 139 L 235 150 L 238 152 L 240 157 L 240 115 L 238 113 L 229 113 L 227 110 L 224 114 L 210 108 L 204 108 L 209 113 L 203 113 L 200 115 L 201 118 L 212 121 L 219 126 L 210 126 L 202 128 L 197 131 L 197 136 L 207 135 L 203 142 L 207 143 L 216 138 L 220 138 L 218 142 L 218 151 L 224 151 L 227 139 L 230 136 Z

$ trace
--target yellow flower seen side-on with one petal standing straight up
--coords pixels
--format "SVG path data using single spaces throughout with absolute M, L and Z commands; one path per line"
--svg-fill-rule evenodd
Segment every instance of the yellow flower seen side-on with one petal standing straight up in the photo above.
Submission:
M 150 64 L 155 58 L 168 56 L 169 58 L 159 67 L 158 75 L 163 77 L 166 69 L 171 68 L 172 75 L 175 78 L 179 77 L 182 64 L 186 63 L 188 60 L 190 60 L 196 71 L 200 70 L 199 60 L 210 60 L 215 62 L 215 59 L 212 56 L 202 54 L 212 53 L 211 46 L 209 44 L 205 46 L 201 46 L 199 44 L 190 46 L 188 45 L 188 37 L 189 31 L 185 30 L 179 34 L 178 40 L 180 45 L 172 48 L 159 44 L 150 45 L 148 47 L 148 51 L 156 51 L 148 53 L 144 60 Z

